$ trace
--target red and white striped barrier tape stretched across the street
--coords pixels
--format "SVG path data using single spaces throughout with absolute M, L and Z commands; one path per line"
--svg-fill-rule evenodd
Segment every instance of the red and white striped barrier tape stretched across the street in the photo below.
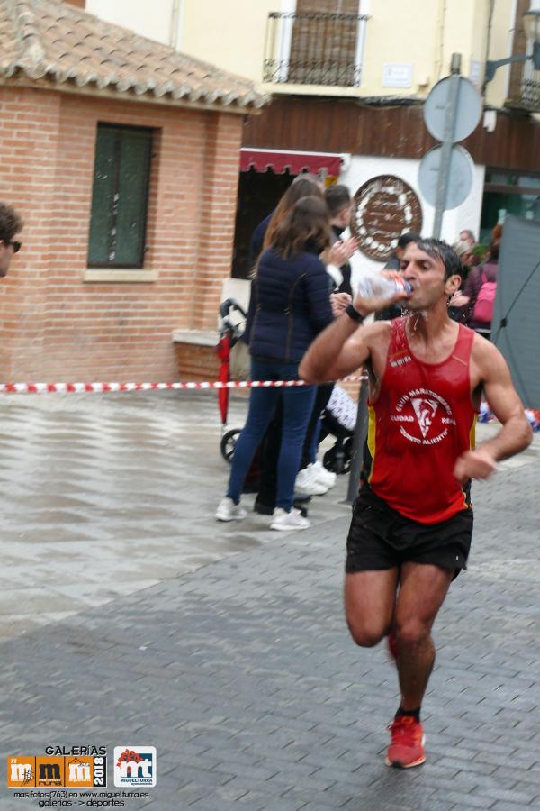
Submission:
M 339 382 L 367 379 L 350 376 Z M 103 394 L 112 391 L 164 391 L 169 389 L 258 388 L 306 386 L 303 380 L 220 380 L 188 383 L 0 383 L 0 394 Z

